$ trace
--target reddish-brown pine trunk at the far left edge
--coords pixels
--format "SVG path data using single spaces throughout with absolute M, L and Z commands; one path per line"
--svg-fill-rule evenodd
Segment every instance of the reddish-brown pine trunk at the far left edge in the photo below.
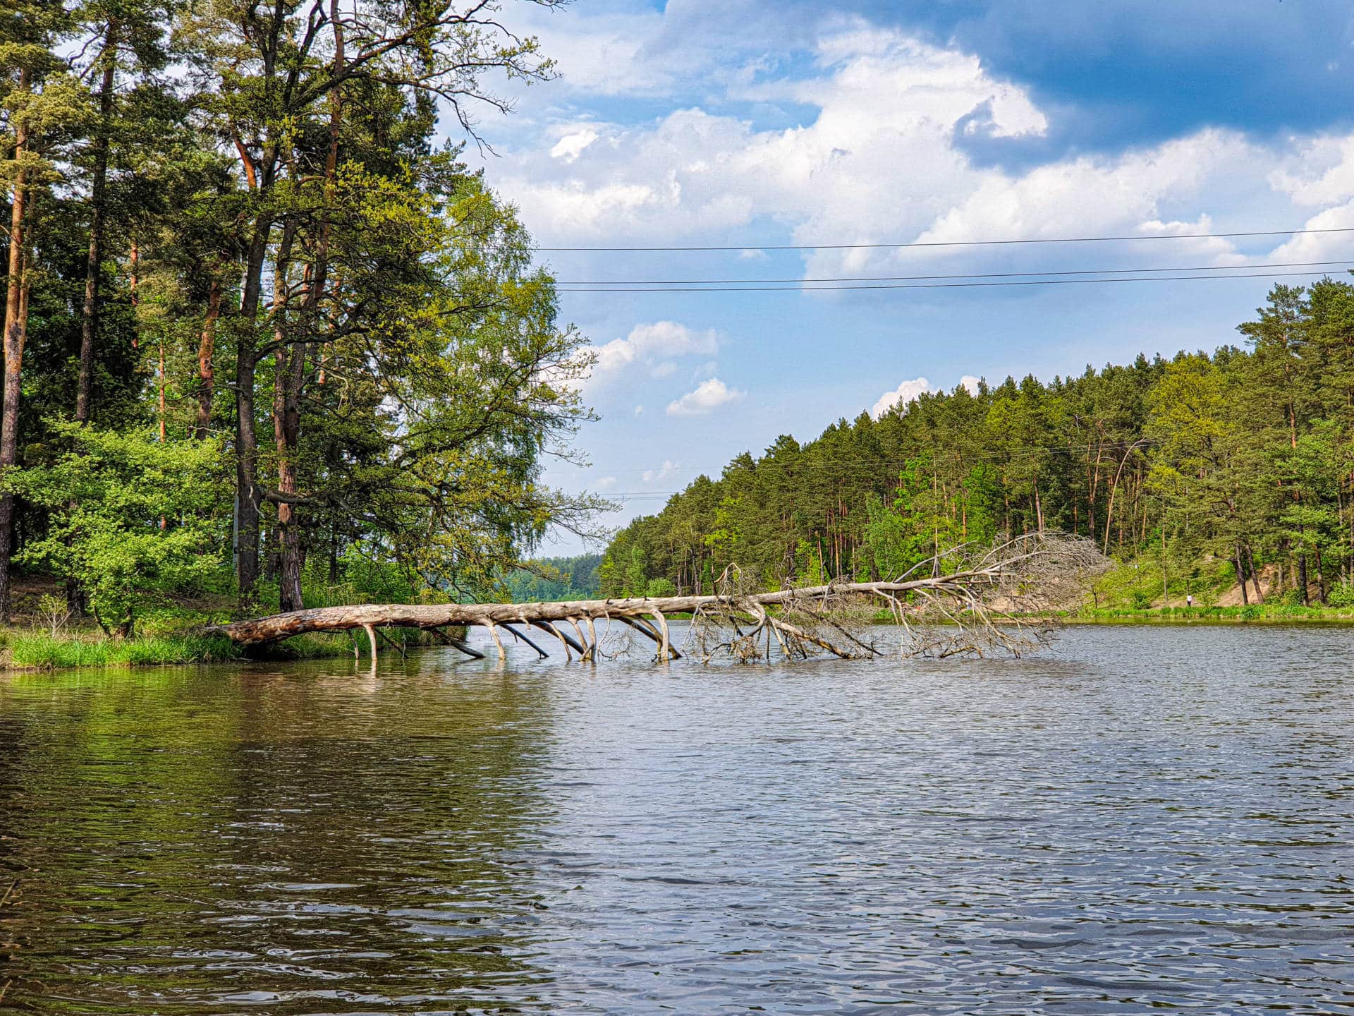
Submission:
M 19 88 L 28 84 L 28 72 L 19 72 Z M 15 160 L 24 156 L 27 134 L 20 126 L 15 135 Z M 24 244 L 27 225 L 27 171 L 14 179 L 9 209 L 9 278 L 4 303 L 4 408 L 0 410 L 0 469 L 15 465 L 19 448 L 19 378 L 23 367 L 23 343 L 27 337 L 27 287 Z M 9 545 L 14 541 L 14 494 L 0 496 L 0 622 L 9 623 Z

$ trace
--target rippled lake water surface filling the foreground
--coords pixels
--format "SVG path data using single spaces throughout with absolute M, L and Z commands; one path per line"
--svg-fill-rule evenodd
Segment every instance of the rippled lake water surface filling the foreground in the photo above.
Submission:
M 0 1011 L 1350 1012 L 1351 664 L 1106 627 L 4 680 Z

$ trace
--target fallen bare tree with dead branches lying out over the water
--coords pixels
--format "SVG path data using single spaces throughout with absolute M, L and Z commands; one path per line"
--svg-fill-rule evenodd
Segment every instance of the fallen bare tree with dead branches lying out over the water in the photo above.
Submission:
M 964 549 L 946 553 L 965 566 L 938 574 L 933 558 L 932 574 L 896 581 L 829 583 L 776 592 L 749 592 L 739 587 L 739 574 L 726 569 L 716 592 L 701 596 L 646 596 L 607 600 L 569 600 L 559 603 L 445 603 L 445 604 L 368 604 L 355 607 L 320 607 L 275 614 L 252 620 L 237 620 L 207 629 L 241 645 L 261 645 L 311 631 L 349 631 L 378 627 L 413 627 L 436 630 L 447 625 L 482 626 L 492 634 L 504 627 L 527 641 L 536 652 L 544 650 L 513 630 L 512 625 L 535 627 L 559 639 L 565 653 L 573 649 L 584 660 L 605 656 L 598 645 L 597 622 L 615 620 L 626 630 L 639 631 L 657 643 L 655 658 L 677 658 L 672 646 L 666 615 L 689 614 L 692 633 L 700 654 L 709 660 L 715 652 L 727 650 L 737 658 L 761 656 L 758 637 L 772 637 L 784 656 L 807 657 L 816 650 L 842 658 L 877 656 L 873 642 L 864 637 L 864 625 L 881 607 L 909 633 L 911 652 L 949 656 L 1005 649 L 1020 653 L 1032 648 L 1041 635 L 1017 616 L 1030 608 L 1047 608 L 1068 581 L 1080 580 L 1087 572 L 1104 568 L 1104 558 L 1080 538 L 1039 534 L 1022 536 L 983 554 L 963 554 Z M 918 565 L 911 570 L 922 569 Z M 910 574 L 911 574 L 910 573 Z M 1001 607 L 994 603 L 1001 601 Z M 864 612 L 862 610 L 864 608 Z M 911 619 L 909 618 L 911 615 Z M 914 622 L 925 619 L 949 622 L 959 634 L 936 637 L 930 629 L 918 630 Z M 742 625 L 749 627 L 743 631 Z M 571 625 L 582 639 L 562 630 Z M 853 625 L 860 631 L 848 630 Z M 592 633 L 584 634 L 584 626 Z M 720 639 L 718 633 L 731 629 L 734 635 Z M 845 637 L 838 643 L 837 635 Z M 375 639 L 370 638 L 372 648 Z M 502 656 L 501 642 L 498 643 Z

